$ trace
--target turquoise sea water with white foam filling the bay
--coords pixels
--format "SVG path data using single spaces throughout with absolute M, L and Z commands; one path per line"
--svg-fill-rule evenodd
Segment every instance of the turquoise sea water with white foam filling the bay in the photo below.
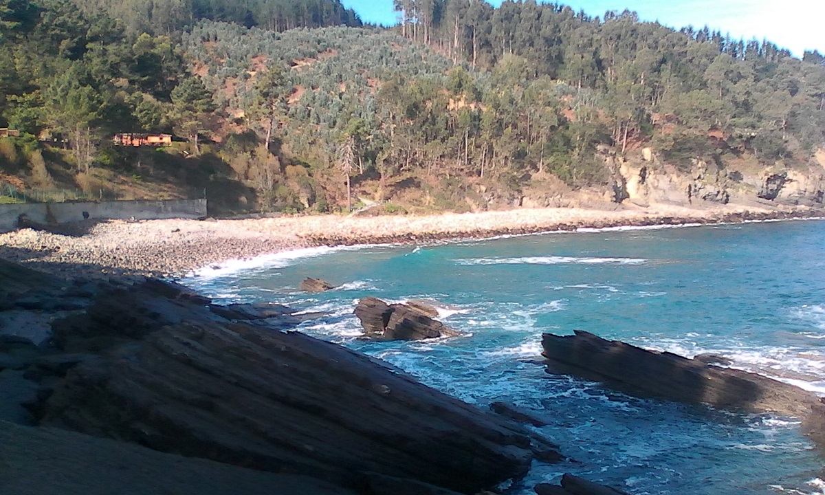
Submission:
M 339 290 L 299 292 L 306 276 Z M 324 311 L 301 331 L 378 356 L 486 407 L 506 400 L 575 463 L 534 464 L 507 493 L 564 472 L 630 493 L 825 493 L 790 418 L 632 398 L 537 364 L 542 332 L 583 329 L 734 365 L 825 395 L 825 222 L 548 233 L 436 246 L 318 248 L 186 280 L 220 302 Z M 432 299 L 462 337 L 361 342 L 357 299 Z

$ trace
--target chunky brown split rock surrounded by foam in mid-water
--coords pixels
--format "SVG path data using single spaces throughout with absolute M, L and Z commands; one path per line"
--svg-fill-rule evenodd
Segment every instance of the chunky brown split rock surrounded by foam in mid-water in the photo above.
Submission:
M 358 302 L 355 314 L 361 320 L 365 337 L 376 340 L 422 340 L 460 335 L 431 318 L 432 310 L 421 309 L 417 304 L 387 304 L 375 297 L 365 297 Z

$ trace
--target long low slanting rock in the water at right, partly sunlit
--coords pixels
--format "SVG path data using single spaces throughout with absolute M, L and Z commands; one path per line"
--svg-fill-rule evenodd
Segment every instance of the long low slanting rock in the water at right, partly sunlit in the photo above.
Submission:
M 807 417 L 818 398 L 799 387 L 742 370 L 720 368 L 671 352 L 646 351 L 589 332 L 544 334 L 551 373 L 601 380 L 626 392 L 747 413 Z

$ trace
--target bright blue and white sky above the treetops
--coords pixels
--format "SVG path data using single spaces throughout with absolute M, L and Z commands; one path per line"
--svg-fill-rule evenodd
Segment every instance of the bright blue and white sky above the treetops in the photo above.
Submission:
M 711 31 L 733 38 L 774 42 L 801 57 L 804 50 L 825 53 L 825 0 L 556 0 L 584 10 L 590 16 L 625 8 L 639 13 L 642 21 L 659 21 L 679 29 L 707 25 Z M 502 0 L 492 0 L 497 6 Z M 393 0 L 342 0 L 366 22 L 392 25 L 396 19 Z

